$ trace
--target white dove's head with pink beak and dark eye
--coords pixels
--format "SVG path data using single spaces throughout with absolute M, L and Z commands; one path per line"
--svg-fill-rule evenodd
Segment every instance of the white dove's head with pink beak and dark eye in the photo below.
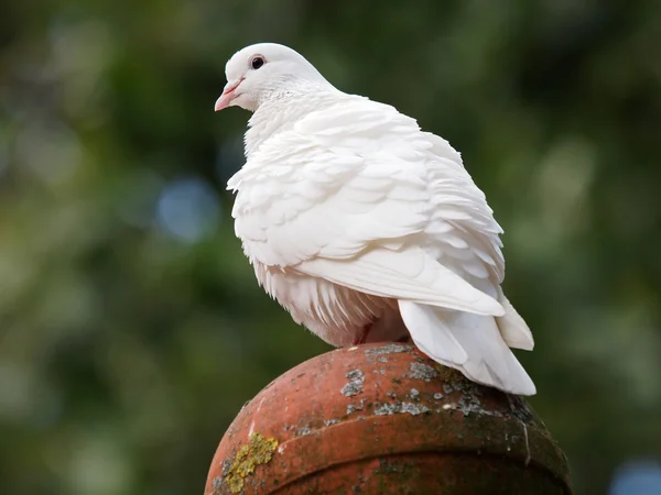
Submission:
M 232 55 L 225 66 L 227 85 L 216 111 L 241 107 L 254 111 L 261 103 L 288 94 L 330 85 L 302 55 L 284 45 L 259 43 Z

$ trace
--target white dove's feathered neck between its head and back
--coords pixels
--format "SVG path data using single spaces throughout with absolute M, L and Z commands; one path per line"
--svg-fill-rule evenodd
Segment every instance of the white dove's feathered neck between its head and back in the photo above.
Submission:
M 347 95 L 329 84 L 305 90 L 288 91 L 263 101 L 248 121 L 246 156 L 266 140 L 291 129 L 306 114 L 338 103 Z

